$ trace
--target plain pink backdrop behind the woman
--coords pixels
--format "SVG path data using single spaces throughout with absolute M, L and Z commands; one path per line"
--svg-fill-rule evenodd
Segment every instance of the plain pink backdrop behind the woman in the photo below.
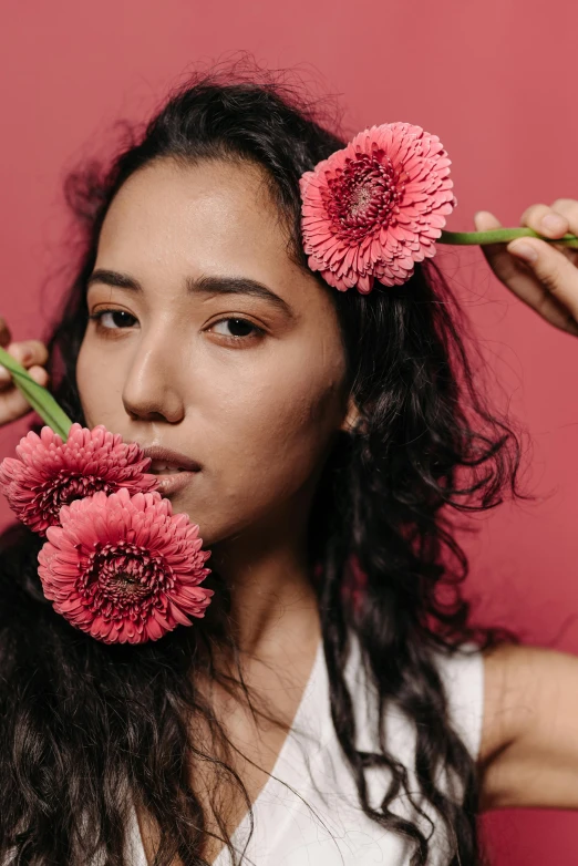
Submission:
M 63 286 L 66 168 L 105 152 L 112 123 L 144 116 L 188 66 L 239 50 L 269 66 L 299 64 L 318 91 L 339 96 L 353 132 L 407 121 L 437 134 L 458 198 L 451 230 L 473 230 L 479 209 L 515 226 L 533 203 L 578 198 L 578 124 L 568 99 L 578 7 L 565 7 L 4 0 L 0 313 L 13 338 L 43 337 Z M 540 497 L 472 522 L 469 594 L 479 616 L 515 627 L 528 642 L 577 653 L 578 342 L 510 296 L 479 249 L 445 247 L 443 260 L 500 382 L 496 399 L 529 429 L 528 481 Z M 1 455 L 24 429 L 0 433 Z M 6 523 L 11 513 L 0 506 Z M 578 862 L 576 812 L 504 811 L 482 823 L 499 866 Z

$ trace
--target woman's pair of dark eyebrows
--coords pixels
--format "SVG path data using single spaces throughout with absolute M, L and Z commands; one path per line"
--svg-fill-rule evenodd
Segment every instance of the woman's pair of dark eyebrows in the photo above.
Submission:
M 86 280 L 86 288 L 94 282 L 103 282 L 106 286 L 114 286 L 117 289 L 128 289 L 136 292 L 143 291 L 143 287 L 134 277 L 131 277 L 127 274 L 121 274 L 117 270 L 109 270 L 107 268 L 97 268 L 94 270 Z M 199 277 L 198 279 L 187 277 L 185 279 L 185 287 L 190 295 L 252 295 L 256 298 L 261 298 L 262 300 L 275 305 L 289 318 L 296 318 L 293 310 L 286 300 L 268 289 L 267 286 L 264 286 L 262 282 L 258 282 L 249 277 L 206 276 Z

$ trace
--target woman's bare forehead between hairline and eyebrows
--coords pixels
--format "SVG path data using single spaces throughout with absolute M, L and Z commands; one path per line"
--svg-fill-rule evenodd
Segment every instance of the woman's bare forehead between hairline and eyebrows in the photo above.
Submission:
M 228 274 L 262 282 L 298 307 L 327 303 L 313 275 L 292 260 L 288 240 L 258 166 L 163 159 L 132 175 L 113 199 L 95 268 L 151 285 Z

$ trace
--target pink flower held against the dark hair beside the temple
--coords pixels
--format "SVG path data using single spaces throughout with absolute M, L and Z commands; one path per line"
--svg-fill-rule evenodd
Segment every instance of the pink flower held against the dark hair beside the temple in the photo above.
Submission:
M 435 239 L 457 199 L 440 138 L 410 123 L 384 123 L 300 178 L 303 249 L 333 288 L 362 295 L 375 279 L 401 286 Z

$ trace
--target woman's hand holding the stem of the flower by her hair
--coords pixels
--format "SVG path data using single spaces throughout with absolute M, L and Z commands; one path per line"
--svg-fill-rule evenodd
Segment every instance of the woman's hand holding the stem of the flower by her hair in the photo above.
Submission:
M 474 223 L 476 231 L 502 226 L 487 210 L 479 210 Z M 567 231 L 578 235 L 578 202 L 557 198 L 550 207 L 531 205 L 522 215 L 520 226 L 548 238 L 560 238 Z M 496 277 L 514 295 L 550 324 L 578 337 L 578 249 L 533 237 L 481 248 Z M 522 256 L 524 248 L 536 254 L 535 260 Z

